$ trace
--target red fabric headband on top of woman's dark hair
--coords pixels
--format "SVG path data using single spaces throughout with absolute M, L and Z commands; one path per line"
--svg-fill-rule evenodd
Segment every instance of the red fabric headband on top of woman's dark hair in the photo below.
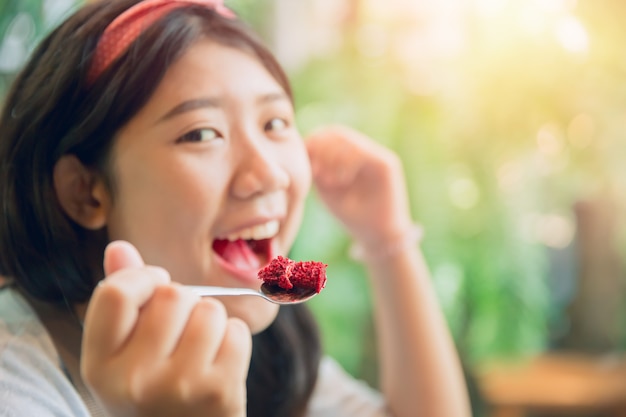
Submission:
M 223 3 L 223 0 L 145 0 L 135 4 L 116 17 L 102 33 L 87 81 L 92 84 L 141 32 L 168 12 L 185 5 L 200 4 L 215 9 L 224 17 L 234 18 L 235 14 Z

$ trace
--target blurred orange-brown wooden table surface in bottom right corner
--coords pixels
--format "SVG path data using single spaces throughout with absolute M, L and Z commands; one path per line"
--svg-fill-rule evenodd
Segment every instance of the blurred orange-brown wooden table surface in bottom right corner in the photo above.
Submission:
M 476 369 L 489 417 L 626 417 L 626 356 L 551 353 Z

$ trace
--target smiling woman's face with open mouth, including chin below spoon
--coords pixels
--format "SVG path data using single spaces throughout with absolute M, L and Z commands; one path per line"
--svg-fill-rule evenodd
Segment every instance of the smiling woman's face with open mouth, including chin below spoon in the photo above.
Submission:
M 168 71 L 113 148 L 111 240 L 193 285 L 259 288 L 286 255 L 311 182 L 289 97 L 251 54 L 210 40 Z M 277 306 L 223 297 L 253 332 Z

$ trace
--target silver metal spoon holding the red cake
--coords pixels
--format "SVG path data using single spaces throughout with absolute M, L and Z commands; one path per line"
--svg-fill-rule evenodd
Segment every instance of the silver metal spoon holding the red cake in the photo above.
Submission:
M 276 285 L 261 285 L 259 291 L 249 288 L 209 287 L 204 285 L 189 285 L 192 291 L 201 297 L 227 296 L 227 295 L 255 295 L 275 304 L 298 304 L 303 303 L 315 295 L 313 289 L 284 290 Z

